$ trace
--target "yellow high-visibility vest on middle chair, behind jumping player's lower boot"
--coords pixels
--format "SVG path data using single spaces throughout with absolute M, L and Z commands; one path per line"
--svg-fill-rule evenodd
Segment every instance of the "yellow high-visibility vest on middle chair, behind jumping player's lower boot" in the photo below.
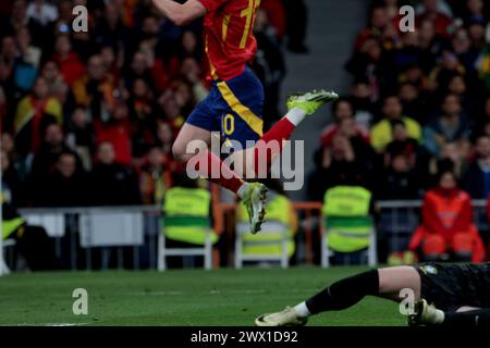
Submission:
M 295 250 L 294 233 L 291 229 L 291 201 L 284 197 L 277 195 L 266 203 L 266 220 L 265 222 L 279 222 L 286 226 L 287 240 L 287 256 L 292 257 Z M 248 212 L 244 204 L 238 204 L 237 222 L 248 222 Z M 262 231 L 256 235 L 249 233 L 243 236 L 244 254 L 262 254 L 262 256 L 280 256 L 282 254 L 282 240 L 284 238 L 283 232 L 267 232 L 267 224 L 262 225 Z

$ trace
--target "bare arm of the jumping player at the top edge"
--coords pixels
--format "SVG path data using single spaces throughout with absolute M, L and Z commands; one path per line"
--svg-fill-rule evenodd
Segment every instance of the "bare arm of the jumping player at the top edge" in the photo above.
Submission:
M 175 25 L 182 26 L 206 14 L 206 8 L 198 0 L 179 3 L 173 0 L 152 0 L 155 7 Z

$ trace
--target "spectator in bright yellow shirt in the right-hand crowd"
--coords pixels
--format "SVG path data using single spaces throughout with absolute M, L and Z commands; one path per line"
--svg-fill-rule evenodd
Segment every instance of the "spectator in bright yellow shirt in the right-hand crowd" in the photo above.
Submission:
M 383 100 L 382 113 L 384 119 L 371 128 L 371 146 L 376 151 L 382 152 L 387 145 L 393 140 L 392 123 L 402 121 L 406 126 L 408 136 L 417 141 L 421 139 L 420 125 L 413 119 L 403 115 L 402 103 L 396 96 L 389 96 Z

